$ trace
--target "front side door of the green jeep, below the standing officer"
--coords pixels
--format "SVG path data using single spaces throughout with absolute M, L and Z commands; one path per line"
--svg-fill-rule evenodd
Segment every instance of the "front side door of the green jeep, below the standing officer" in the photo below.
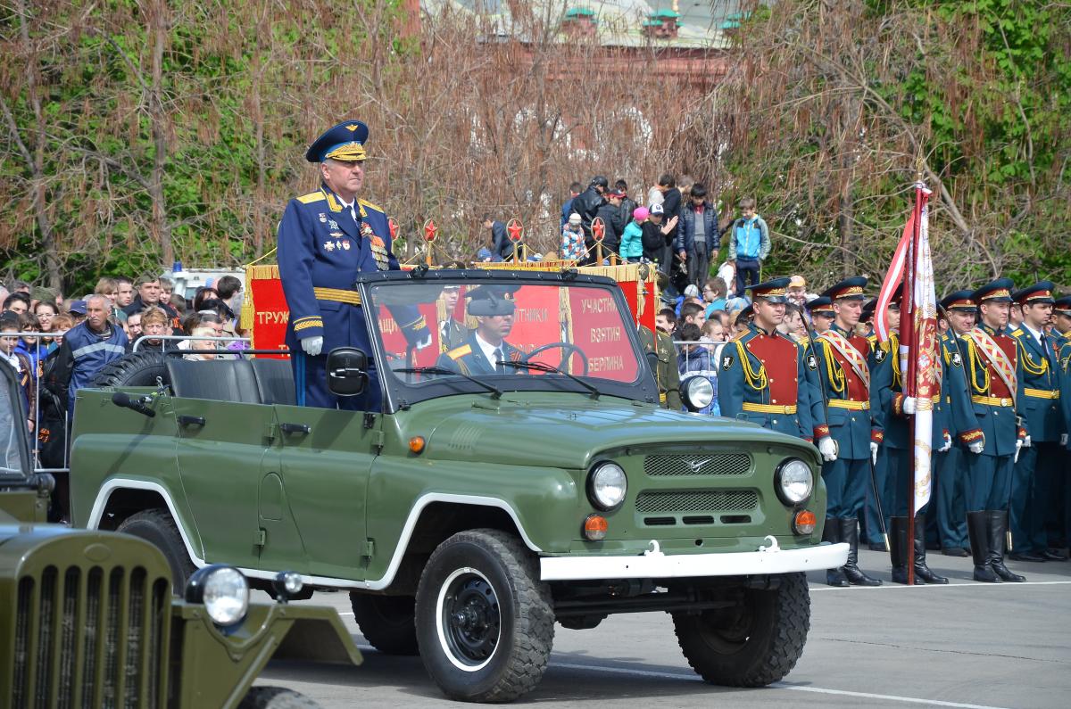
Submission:
M 375 459 L 376 417 L 306 406 L 275 407 L 282 494 L 307 565 L 331 578 L 364 578 L 365 495 Z M 268 535 L 265 554 L 276 555 Z M 277 555 L 276 555 L 277 557 Z M 296 568 L 276 565 L 273 569 Z

